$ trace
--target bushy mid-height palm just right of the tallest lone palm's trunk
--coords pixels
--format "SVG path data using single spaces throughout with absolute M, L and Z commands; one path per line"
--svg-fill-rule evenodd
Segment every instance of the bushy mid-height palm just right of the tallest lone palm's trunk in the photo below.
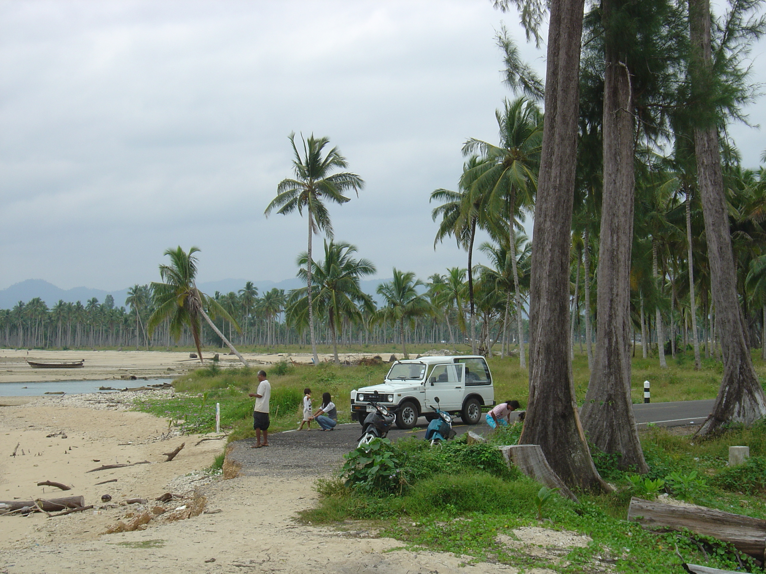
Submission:
M 338 357 L 338 325 L 343 320 L 362 322 L 362 311 L 372 314 L 375 303 L 362 291 L 359 279 L 375 274 L 375 265 L 369 259 L 353 259 L 356 246 L 350 243 L 325 241 L 325 258 L 316 263 L 314 279 L 316 296 L 314 305 L 320 315 L 327 315 L 332 334 L 332 355 L 336 364 Z M 301 267 L 298 276 L 308 281 L 308 253 L 301 253 L 297 263 Z M 306 324 L 308 309 L 307 289 L 296 289 L 290 295 L 287 316 L 290 323 Z

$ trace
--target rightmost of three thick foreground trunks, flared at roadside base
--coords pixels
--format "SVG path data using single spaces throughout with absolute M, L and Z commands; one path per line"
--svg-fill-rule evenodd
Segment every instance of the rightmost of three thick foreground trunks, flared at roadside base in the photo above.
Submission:
M 689 0 L 692 44 L 692 94 L 707 99 L 712 81 L 709 0 Z M 703 102 L 703 105 L 707 102 Z M 694 131 L 697 183 L 705 216 L 710 282 L 715 301 L 716 331 L 720 333 L 723 377 L 712 413 L 697 434 L 709 435 L 729 422 L 751 424 L 766 415 L 766 396 L 753 368 L 745 339 L 745 319 L 738 302 L 736 266 L 723 189 L 718 128 L 711 109 L 702 109 L 704 123 Z M 705 114 L 704 112 L 708 112 Z

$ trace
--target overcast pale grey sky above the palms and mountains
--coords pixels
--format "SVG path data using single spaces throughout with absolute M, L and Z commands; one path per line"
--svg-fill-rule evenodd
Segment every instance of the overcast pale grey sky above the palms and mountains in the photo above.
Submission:
M 465 266 L 434 251 L 428 195 L 456 187 L 466 138 L 496 140 L 502 21 L 542 74 L 516 20 L 489 0 L 0 2 L 0 289 L 123 289 L 177 245 L 201 281 L 295 276 L 306 220 L 263 214 L 292 131 L 367 182 L 331 213 L 378 276 Z M 762 132 L 732 134 L 758 165 Z

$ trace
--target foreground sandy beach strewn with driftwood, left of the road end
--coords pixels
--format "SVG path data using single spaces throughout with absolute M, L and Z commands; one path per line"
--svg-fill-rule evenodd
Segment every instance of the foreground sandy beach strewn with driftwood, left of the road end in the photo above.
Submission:
M 378 537 L 363 523 L 342 529 L 297 523 L 296 513 L 315 503 L 314 481 L 327 475 L 327 468 L 312 473 L 272 464 L 257 475 L 210 477 L 201 469 L 221 452 L 224 440 L 199 442 L 205 437 L 173 433 L 165 438 L 165 421 L 149 414 L 85 400 L 83 406 L 56 401 L 0 398 L 0 499 L 82 495 L 95 508 L 50 518 L 0 516 L 0 572 L 518 572 L 502 564 L 461 566 L 467 557 L 449 553 L 391 550 L 401 549 L 401 543 Z M 178 456 L 164 462 L 162 453 L 182 442 Z M 10 456 L 17 444 L 16 456 Z M 150 464 L 87 472 L 145 460 Z M 46 480 L 72 490 L 37 486 Z M 154 501 L 165 492 L 189 498 Z M 112 500 L 102 503 L 103 494 Z M 134 497 L 147 502 L 126 504 Z M 185 518 L 184 507 L 194 501 L 203 501 L 205 512 L 167 518 Z M 146 530 L 106 533 L 118 520 L 129 523 L 156 506 L 167 512 Z

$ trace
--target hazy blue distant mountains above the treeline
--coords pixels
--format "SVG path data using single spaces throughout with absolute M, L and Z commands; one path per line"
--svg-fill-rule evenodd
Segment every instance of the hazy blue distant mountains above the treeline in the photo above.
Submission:
M 362 281 L 362 289 L 369 293 L 377 300 L 375 290 L 378 289 L 378 285 L 382 282 L 390 281 L 390 279 L 367 279 Z M 230 291 L 238 292 L 244 288 L 244 284 L 247 281 L 245 279 L 221 279 L 220 281 L 208 281 L 204 283 L 198 283 L 199 289 L 208 295 L 214 295 L 216 291 L 221 293 L 228 293 Z M 303 285 L 300 279 L 293 277 L 292 279 L 284 279 L 280 282 L 274 281 L 254 281 L 253 284 L 258 288 L 258 292 L 263 294 L 270 291 L 275 287 L 277 289 L 284 289 L 290 291 L 290 289 L 298 289 Z M 74 287 L 72 289 L 61 289 L 53 283 L 49 283 L 44 279 L 27 279 L 19 283 L 15 283 L 8 287 L 8 289 L 0 289 L 0 309 L 13 308 L 19 301 L 28 302 L 35 297 L 41 298 L 48 307 L 55 305 L 59 299 L 62 299 L 67 303 L 76 303 L 78 301 L 87 302 L 89 299 L 95 297 L 100 303 L 103 303 L 106 295 L 112 295 L 114 298 L 114 304 L 117 307 L 125 305 L 125 299 L 128 296 L 128 289 L 121 289 L 119 291 L 103 291 L 103 289 L 92 289 L 90 287 Z

